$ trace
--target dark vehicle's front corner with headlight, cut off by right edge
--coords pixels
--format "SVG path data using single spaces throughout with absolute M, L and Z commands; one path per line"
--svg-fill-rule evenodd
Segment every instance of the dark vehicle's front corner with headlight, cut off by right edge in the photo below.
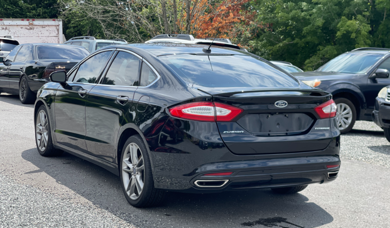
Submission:
M 372 121 L 383 128 L 386 139 L 390 142 L 390 86 L 384 87 L 379 91 L 375 99 Z

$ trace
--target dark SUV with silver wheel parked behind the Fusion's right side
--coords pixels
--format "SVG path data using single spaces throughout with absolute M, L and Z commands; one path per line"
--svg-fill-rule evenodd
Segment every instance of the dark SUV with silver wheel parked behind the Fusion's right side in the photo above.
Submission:
M 330 60 L 315 71 L 292 73 L 309 85 L 333 94 L 337 122 L 342 134 L 356 120 L 372 121 L 375 97 L 390 85 L 390 49 L 363 47 Z M 317 82 L 316 82 L 317 81 Z

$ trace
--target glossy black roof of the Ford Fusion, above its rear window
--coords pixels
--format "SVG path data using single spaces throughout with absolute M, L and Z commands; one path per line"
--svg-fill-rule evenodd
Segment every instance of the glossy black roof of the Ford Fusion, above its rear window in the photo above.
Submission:
M 207 48 L 208 45 L 159 43 L 159 44 L 114 45 L 114 46 L 109 46 L 108 48 L 115 48 L 115 47 L 124 48 L 124 49 L 131 49 L 131 47 L 135 47 L 135 48 L 144 49 L 156 56 L 160 56 L 160 55 L 173 55 L 173 54 L 205 54 L 202 51 L 202 49 L 204 47 Z M 99 50 L 102 49 L 103 48 L 100 48 Z M 211 49 L 211 54 L 252 55 L 246 51 L 229 48 L 229 47 L 212 46 L 210 49 Z

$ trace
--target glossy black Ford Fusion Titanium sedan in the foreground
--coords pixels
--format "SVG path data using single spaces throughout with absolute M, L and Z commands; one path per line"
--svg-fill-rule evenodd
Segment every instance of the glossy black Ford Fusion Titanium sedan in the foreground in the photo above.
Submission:
M 339 172 L 331 94 L 248 52 L 109 46 L 50 79 L 35 102 L 39 153 L 105 167 L 137 207 L 167 190 L 295 193 Z

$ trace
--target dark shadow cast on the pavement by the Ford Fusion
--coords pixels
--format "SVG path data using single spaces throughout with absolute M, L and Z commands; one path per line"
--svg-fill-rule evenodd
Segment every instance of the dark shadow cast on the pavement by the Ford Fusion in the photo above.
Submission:
M 22 158 L 58 183 L 138 227 L 319 227 L 333 217 L 302 194 L 276 195 L 270 189 L 216 194 L 169 192 L 154 208 L 135 208 L 126 201 L 119 177 L 86 160 L 64 153 L 46 158 L 36 148 Z M 310 187 L 310 186 L 309 186 Z

